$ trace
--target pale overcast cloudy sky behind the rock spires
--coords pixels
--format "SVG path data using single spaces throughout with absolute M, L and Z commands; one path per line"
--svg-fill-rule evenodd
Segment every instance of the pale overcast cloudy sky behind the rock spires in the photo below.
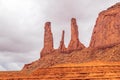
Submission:
M 119 0 L 0 0 L 0 71 L 21 70 L 40 58 L 44 23 L 50 21 L 54 48 L 62 30 L 70 41 L 70 20 L 77 19 L 79 39 L 89 46 L 98 14 Z

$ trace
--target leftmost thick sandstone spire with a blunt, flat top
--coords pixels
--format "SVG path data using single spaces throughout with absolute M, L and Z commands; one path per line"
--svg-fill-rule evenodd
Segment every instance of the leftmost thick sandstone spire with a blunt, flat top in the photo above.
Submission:
M 41 57 L 53 51 L 53 35 L 51 32 L 51 23 L 46 22 L 44 27 L 44 48 L 41 51 Z

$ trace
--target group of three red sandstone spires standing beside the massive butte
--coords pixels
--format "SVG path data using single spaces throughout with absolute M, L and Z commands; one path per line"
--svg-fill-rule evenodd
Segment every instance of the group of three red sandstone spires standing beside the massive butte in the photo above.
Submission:
M 52 53 L 55 49 L 53 48 L 53 35 L 51 32 L 51 23 L 46 22 L 45 23 L 45 33 L 44 33 L 44 47 L 41 51 L 41 57 Z M 64 44 L 64 34 L 65 31 L 62 32 L 62 38 L 60 41 L 60 46 L 58 51 L 61 53 L 70 53 L 74 50 L 81 50 L 85 48 L 85 46 L 79 41 L 79 32 L 78 32 L 78 26 L 75 18 L 71 19 L 71 40 L 68 45 L 68 48 L 65 47 Z

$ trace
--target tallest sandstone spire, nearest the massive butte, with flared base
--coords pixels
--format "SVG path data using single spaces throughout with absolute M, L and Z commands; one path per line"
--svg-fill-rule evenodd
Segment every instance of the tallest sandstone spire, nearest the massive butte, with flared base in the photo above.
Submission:
M 78 26 L 75 18 L 71 19 L 71 40 L 68 45 L 68 50 L 80 50 L 85 48 L 85 46 L 79 41 L 79 32 L 78 32 Z

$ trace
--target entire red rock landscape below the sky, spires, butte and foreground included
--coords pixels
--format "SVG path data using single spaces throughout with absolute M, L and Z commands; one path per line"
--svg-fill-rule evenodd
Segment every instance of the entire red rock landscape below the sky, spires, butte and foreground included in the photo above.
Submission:
M 89 48 L 83 49 L 76 20 L 71 22 L 67 50 L 63 31 L 60 47 L 53 51 L 51 24 L 47 22 L 42 58 L 26 64 L 21 71 L 0 71 L 0 80 L 120 80 L 120 3 L 100 13 Z M 73 52 L 61 54 L 68 50 Z

